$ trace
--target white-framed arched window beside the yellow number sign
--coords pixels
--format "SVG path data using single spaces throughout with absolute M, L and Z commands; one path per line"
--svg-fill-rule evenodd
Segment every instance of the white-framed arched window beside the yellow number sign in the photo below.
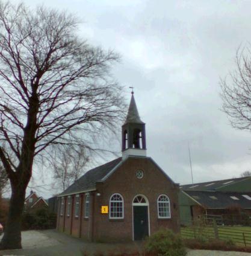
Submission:
M 113 194 L 110 198 L 110 219 L 123 219 L 124 201 L 121 194 Z

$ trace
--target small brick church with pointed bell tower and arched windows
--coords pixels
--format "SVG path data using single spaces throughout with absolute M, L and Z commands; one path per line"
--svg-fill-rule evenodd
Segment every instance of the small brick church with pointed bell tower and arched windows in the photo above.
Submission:
M 132 92 L 122 157 L 93 168 L 58 196 L 57 229 L 90 241 L 141 240 L 179 231 L 179 185 L 146 156 L 145 124 Z

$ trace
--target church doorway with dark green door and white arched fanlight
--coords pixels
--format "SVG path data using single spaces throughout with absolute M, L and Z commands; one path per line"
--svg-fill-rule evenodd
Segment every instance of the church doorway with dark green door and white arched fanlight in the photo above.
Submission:
M 149 235 L 148 202 L 143 196 L 137 196 L 133 202 L 134 240 L 142 240 Z

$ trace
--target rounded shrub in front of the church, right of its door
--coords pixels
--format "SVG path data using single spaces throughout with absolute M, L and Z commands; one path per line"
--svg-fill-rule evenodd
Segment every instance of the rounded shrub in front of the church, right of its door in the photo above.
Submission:
M 184 256 L 187 254 L 181 237 L 170 229 L 160 229 L 146 241 L 146 251 L 163 256 Z

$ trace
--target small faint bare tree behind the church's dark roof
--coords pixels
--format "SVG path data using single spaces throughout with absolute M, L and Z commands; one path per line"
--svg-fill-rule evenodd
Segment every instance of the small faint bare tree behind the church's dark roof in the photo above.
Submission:
M 60 191 L 66 190 L 82 174 L 84 174 L 86 164 L 90 161 L 84 148 L 78 150 L 71 146 L 57 150 L 52 155 L 51 168 L 54 174 L 54 187 Z

